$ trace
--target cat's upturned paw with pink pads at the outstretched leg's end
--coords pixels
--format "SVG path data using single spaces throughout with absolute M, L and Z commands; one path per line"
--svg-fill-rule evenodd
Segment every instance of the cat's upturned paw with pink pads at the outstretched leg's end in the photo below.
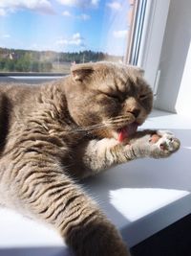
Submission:
M 178 151 L 180 148 L 180 140 L 170 131 L 158 130 L 157 134 L 153 134 L 150 140 L 164 156 Z

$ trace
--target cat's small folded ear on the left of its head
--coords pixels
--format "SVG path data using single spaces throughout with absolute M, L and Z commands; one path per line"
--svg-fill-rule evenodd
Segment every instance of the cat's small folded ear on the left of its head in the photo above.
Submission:
M 71 75 L 74 81 L 83 81 L 90 77 L 94 72 L 93 65 L 91 63 L 86 64 L 74 64 L 71 67 Z

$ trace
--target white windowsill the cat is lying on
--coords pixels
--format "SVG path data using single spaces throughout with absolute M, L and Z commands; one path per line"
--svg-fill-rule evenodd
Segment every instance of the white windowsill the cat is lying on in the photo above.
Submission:
M 180 151 L 132 161 L 83 184 L 130 246 L 191 213 L 191 119 L 154 110 L 143 127 L 172 130 Z M 0 255 L 70 255 L 50 227 L 11 210 L 0 209 L 0 229 Z

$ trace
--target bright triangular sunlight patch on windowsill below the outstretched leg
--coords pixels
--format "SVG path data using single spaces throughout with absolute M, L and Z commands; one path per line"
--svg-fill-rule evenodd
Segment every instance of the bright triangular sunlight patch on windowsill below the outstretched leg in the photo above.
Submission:
M 110 191 L 110 202 L 128 221 L 133 222 L 188 195 L 190 192 L 183 190 L 122 188 Z

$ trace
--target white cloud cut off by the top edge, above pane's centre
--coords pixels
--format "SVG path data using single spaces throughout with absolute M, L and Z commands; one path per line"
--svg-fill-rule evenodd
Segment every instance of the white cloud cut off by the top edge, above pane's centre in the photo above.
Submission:
M 57 0 L 57 2 L 64 6 L 91 8 L 97 7 L 99 0 Z

